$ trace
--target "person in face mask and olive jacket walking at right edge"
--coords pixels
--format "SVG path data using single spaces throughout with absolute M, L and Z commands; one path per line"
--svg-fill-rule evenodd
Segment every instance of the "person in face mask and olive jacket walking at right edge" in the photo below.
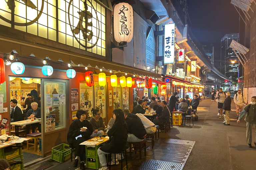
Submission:
M 240 120 L 244 117 L 244 115 L 246 115 L 244 119 L 246 122 L 246 142 L 248 147 L 252 147 L 252 126 L 254 125 L 254 129 L 256 129 L 256 96 L 251 98 L 251 104 L 244 107 L 237 120 L 237 123 L 240 123 Z M 254 144 L 256 146 L 256 138 Z

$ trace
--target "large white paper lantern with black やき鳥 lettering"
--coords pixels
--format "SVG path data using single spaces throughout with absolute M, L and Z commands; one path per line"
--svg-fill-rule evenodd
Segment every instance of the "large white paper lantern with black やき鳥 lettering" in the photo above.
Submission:
M 114 36 L 117 42 L 130 42 L 133 36 L 133 9 L 128 3 L 114 8 Z

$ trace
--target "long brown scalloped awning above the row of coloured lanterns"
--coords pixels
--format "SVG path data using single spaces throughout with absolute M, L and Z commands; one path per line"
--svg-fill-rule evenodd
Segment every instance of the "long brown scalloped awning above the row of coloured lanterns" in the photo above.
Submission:
M 21 56 L 29 56 L 33 54 L 39 59 L 45 59 L 46 57 L 49 57 L 52 61 L 59 61 L 59 59 L 61 59 L 65 63 L 72 61 L 76 65 L 82 63 L 84 66 L 88 66 L 90 64 L 91 67 L 104 67 L 105 69 L 111 69 L 125 73 L 128 72 L 136 75 L 143 75 L 159 79 L 161 78 L 161 74 L 149 72 L 147 70 L 134 68 L 106 60 L 100 60 L 99 58 L 93 58 L 60 49 L 45 47 L 38 44 L 24 43 L 22 41 L 9 40 L 2 37 L 0 37 L 0 44 L 0 51 L 3 53 L 10 53 L 15 50 Z

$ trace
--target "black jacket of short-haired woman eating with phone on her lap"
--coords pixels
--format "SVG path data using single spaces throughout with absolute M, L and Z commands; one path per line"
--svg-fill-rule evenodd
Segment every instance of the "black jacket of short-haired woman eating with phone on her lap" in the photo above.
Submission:
M 79 122 L 78 122 L 79 121 Z M 87 130 L 84 132 L 81 132 L 80 129 L 83 127 L 87 127 Z M 76 119 L 72 124 L 70 125 L 68 129 L 68 135 L 67 135 L 67 140 L 68 143 L 72 146 L 76 146 L 76 136 L 79 136 L 80 134 L 82 136 L 87 137 L 86 140 L 90 139 L 90 135 L 92 134 L 92 125 L 90 124 L 89 121 L 84 120 L 83 122 L 80 122 L 79 119 Z

